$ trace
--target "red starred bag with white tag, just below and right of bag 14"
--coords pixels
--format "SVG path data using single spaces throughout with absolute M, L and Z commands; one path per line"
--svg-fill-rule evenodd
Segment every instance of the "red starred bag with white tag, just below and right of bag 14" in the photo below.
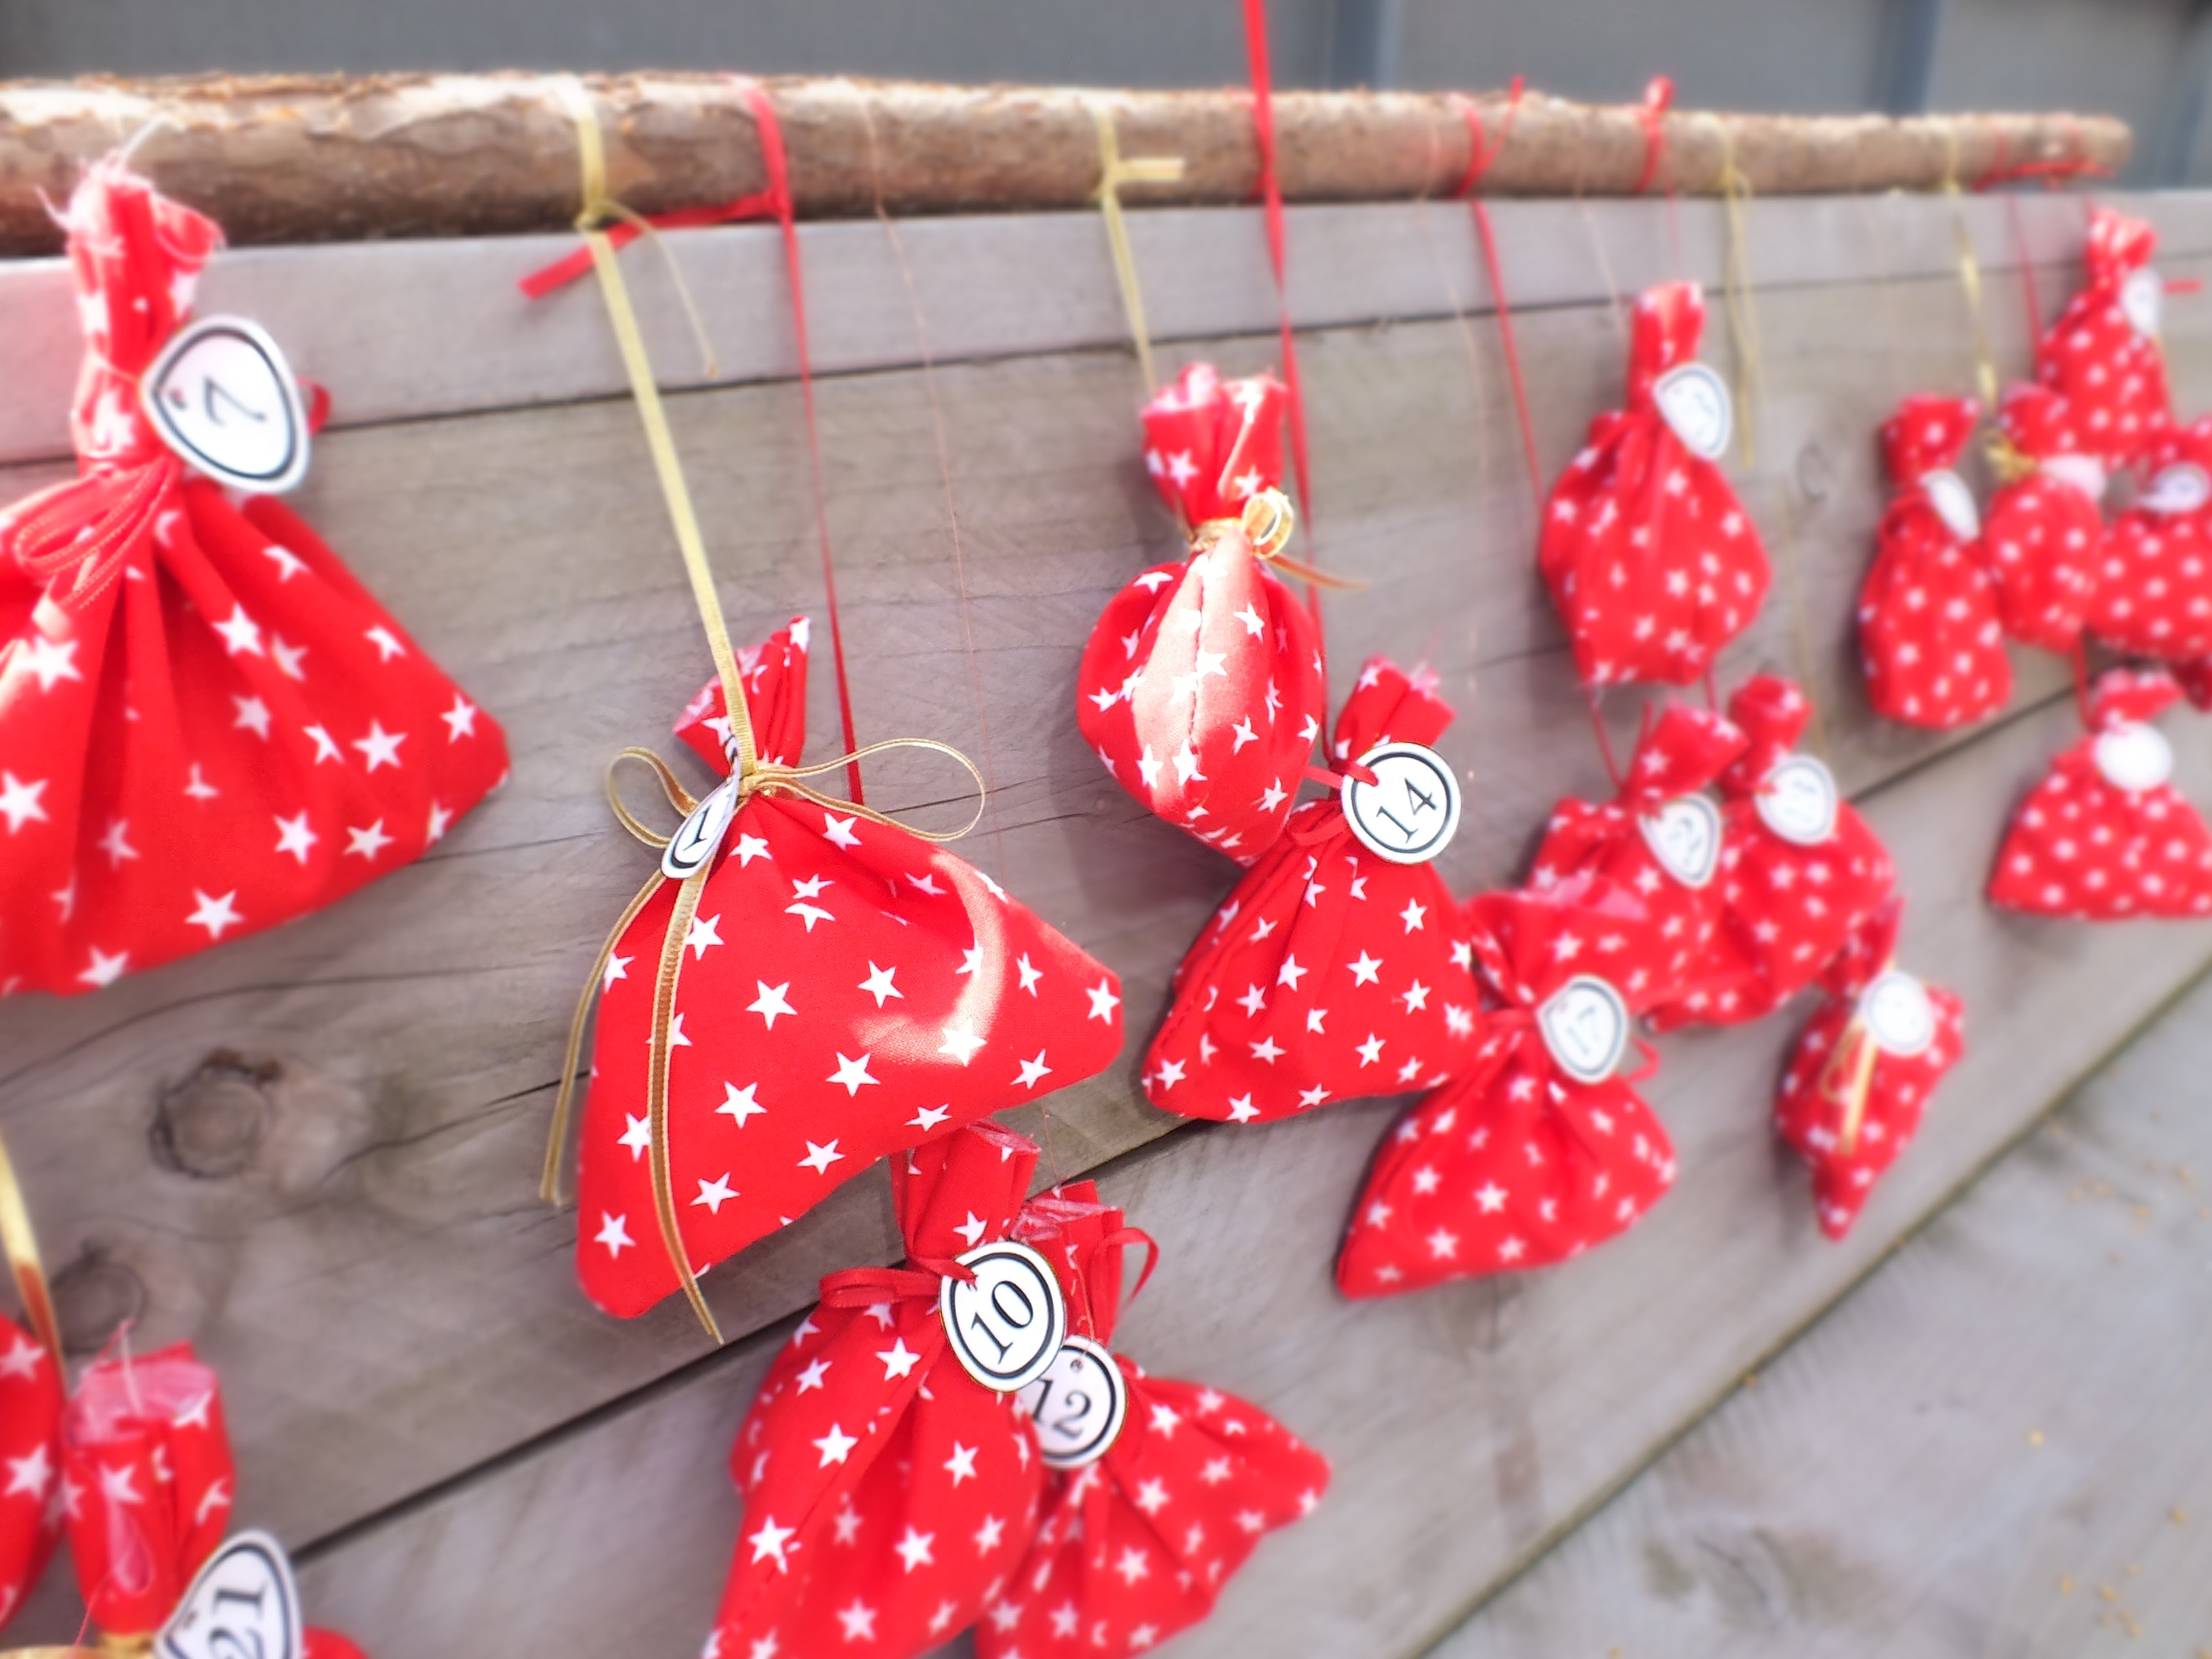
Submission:
M 1617 1077 L 1635 1000 L 1579 949 L 1621 889 L 1478 894 L 1475 962 L 1504 1002 L 1480 1064 L 1409 1110 L 1376 1155 L 1336 1256 L 1347 1296 L 1544 1267 L 1604 1243 L 1674 1183 L 1674 1144 Z

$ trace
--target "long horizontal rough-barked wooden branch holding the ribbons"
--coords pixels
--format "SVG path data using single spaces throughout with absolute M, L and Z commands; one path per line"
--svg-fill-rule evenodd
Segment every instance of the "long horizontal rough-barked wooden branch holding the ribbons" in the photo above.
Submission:
M 639 212 L 759 190 L 761 144 L 726 75 L 588 77 L 615 192 Z M 914 82 L 765 82 L 801 217 L 1040 212 L 1088 204 L 1099 179 L 1088 106 L 1115 113 L 1128 157 L 1179 155 L 1179 184 L 1130 204 L 1234 204 L 1259 188 L 1241 91 L 1086 93 Z M 1506 100 L 1473 100 L 1495 137 Z M 1531 93 L 1482 179 L 1491 195 L 1630 195 L 1646 173 L 1637 108 Z M 1469 131 L 1440 93 L 1283 93 L 1283 195 L 1383 201 L 1458 190 Z M 1947 177 L 2128 159 L 2110 117 L 1661 117 L 1652 188 L 1714 195 L 1732 157 L 1759 195 L 1929 190 Z M 60 246 L 46 199 L 142 135 L 139 166 L 217 217 L 234 243 L 557 230 L 575 217 L 575 135 L 540 75 L 201 77 L 0 86 L 0 252 Z M 42 199 L 44 197 L 44 199 Z

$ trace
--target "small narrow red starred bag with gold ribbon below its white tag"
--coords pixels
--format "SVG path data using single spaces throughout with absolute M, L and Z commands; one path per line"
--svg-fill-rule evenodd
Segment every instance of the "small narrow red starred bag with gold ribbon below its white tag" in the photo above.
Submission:
M 1964 1053 L 1960 1000 L 1893 962 L 1902 918 L 1905 900 L 1891 898 L 1827 964 L 1827 1000 L 1798 1033 L 1774 1093 L 1774 1128 L 1812 1166 L 1814 1212 L 1829 1239 L 1858 1221 Z

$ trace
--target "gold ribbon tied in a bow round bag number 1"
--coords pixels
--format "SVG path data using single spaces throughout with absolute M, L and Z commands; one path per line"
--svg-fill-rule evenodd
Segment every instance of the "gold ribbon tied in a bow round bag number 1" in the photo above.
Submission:
M 920 737 L 894 737 L 818 765 L 783 765 L 781 761 L 761 759 L 759 743 L 752 732 L 752 714 L 745 708 L 745 684 L 739 675 L 737 650 L 730 646 L 730 626 L 721 615 L 721 597 L 714 593 L 714 568 L 708 562 L 706 538 L 699 533 L 699 513 L 692 509 L 690 484 L 684 478 L 684 460 L 677 453 L 675 436 L 668 429 L 668 411 L 661 407 L 659 383 L 653 378 L 653 358 L 646 354 L 646 341 L 637 327 L 637 312 L 630 305 L 630 290 L 622 279 L 622 261 L 615 254 L 613 241 L 608 241 L 602 230 L 608 219 L 624 219 L 628 223 L 641 221 L 606 195 L 606 144 L 599 133 L 599 115 L 593 108 L 591 93 L 573 75 L 560 77 L 555 86 L 562 93 L 562 102 L 568 106 L 568 115 L 575 119 L 577 166 L 582 170 L 582 208 L 575 217 L 575 228 L 584 237 L 584 246 L 591 248 L 591 265 L 599 279 L 599 294 L 606 301 L 606 316 L 615 330 L 615 345 L 622 349 L 622 365 L 630 380 L 630 396 L 637 403 L 637 418 L 646 429 L 646 447 L 653 451 L 653 469 L 659 476 L 661 498 L 668 504 L 668 522 L 675 529 L 677 551 L 684 555 L 684 571 L 690 577 L 692 604 L 697 606 L 699 622 L 706 628 L 708 650 L 714 655 L 714 675 L 721 681 L 723 710 L 730 719 L 726 750 L 730 757 L 730 776 L 737 785 L 737 805 L 743 805 L 754 794 L 770 790 L 776 794 L 801 796 L 823 810 L 852 812 L 874 823 L 905 830 L 922 841 L 958 841 L 982 818 L 982 796 L 987 790 L 982 772 L 975 770 L 975 763 L 949 743 L 936 743 Z M 646 226 L 646 230 L 650 230 L 650 226 Z M 686 305 L 690 305 L 688 294 Z M 692 321 L 697 323 L 697 314 Z M 885 750 L 896 748 L 933 750 L 949 754 L 967 768 L 969 776 L 975 779 L 978 794 L 975 814 L 967 821 L 967 825 L 949 832 L 914 830 L 911 825 L 902 825 L 883 812 L 874 812 L 856 801 L 841 801 L 838 796 L 823 794 L 805 783 L 805 779 L 836 772 L 838 768 L 858 763 L 869 754 L 883 754 Z M 608 799 L 615 805 L 615 818 L 648 847 L 666 847 L 670 836 L 661 836 L 639 823 L 615 790 L 615 768 L 624 759 L 644 761 L 653 768 L 661 783 L 661 792 L 679 812 L 690 814 L 699 803 L 677 781 L 677 774 L 668 768 L 668 763 L 650 750 L 624 750 L 613 763 L 608 763 L 606 783 Z M 714 858 L 708 856 L 677 887 L 675 911 L 670 914 L 668 931 L 661 938 L 659 971 L 653 980 L 653 1037 L 646 1073 L 646 1113 L 653 1130 L 653 1210 L 659 1221 L 661 1245 L 668 1252 L 668 1261 L 677 1272 L 677 1283 L 684 1287 L 684 1296 L 690 1301 L 699 1323 L 706 1327 L 708 1336 L 714 1338 L 714 1343 L 721 1343 L 721 1327 L 714 1323 L 714 1314 L 708 1310 L 706 1296 L 699 1292 L 699 1276 L 692 1272 L 690 1254 L 684 1248 L 675 1186 L 668 1172 L 668 1053 L 675 1024 L 677 984 L 684 973 L 684 940 L 690 933 L 692 918 L 699 914 L 699 894 L 706 889 L 706 880 L 712 869 Z M 584 991 L 577 998 L 575 1015 L 568 1024 L 568 1046 L 562 1057 L 560 1091 L 553 1097 L 553 1126 L 540 1179 L 540 1194 L 551 1203 L 562 1201 L 560 1166 L 562 1150 L 568 1141 L 568 1117 L 575 1106 L 577 1068 L 584 1055 L 584 1026 L 591 1020 L 591 1009 L 595 1006 L 602 989 L 602 975 L 606 973 L 606 962 L 613 956 L 615 945 L 622 940 L 630 922 L 637 920 L 639 911 L 644 911 L 644 907 L 661 889 L 661 880 L 666 880 L 666 876 L 655 869 L 646 885 L 637 889 L 637 896 L 624 907 L 622 918 L 615 922 L 606 942 L 599 947 L 599 953 L 593 958 L 591 978 L 584 982 Z

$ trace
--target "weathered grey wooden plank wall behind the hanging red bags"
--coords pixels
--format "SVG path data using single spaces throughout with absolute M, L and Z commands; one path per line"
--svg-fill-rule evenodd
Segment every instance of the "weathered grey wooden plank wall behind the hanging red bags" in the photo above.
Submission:
M 2163 268 L 2212 268 L 2212 199 L 2130 199 Z M 1745 502 L 1776 593 L 1725 677 L 1778 668 L 1823 703 L 1832 765 L 1898 854 L 1909 960 L 1969 998 L 1971 1057 L 1849 1245 L 1818 1239 L 1765 1130 L 1781 1026 L 1668 1040 L 1652 1097 L 1679 1192 L 1542 1276 L 1349 1307 L 1327 1265 L 1387 1106 L 1267 1130 L 1181 1126 L 1135 1062 L 1232 869 L 1139 814 L 1077 739 L 1075 659 L 1106 597 L 1172 544 L 1137 465 L 1141 385 L 1088 217 L 810 226 L 830 520 L 863 739 L 958 743 L 993 783 L 967 854 L 1126 984 L 1130 1053 L 1013 1115 L 1051 1175 L 1102 1168 L 1168 1248 L 1128 1347 L 1250 1394 L 1338 1486 L 1274 1540 L 1183 1652 L 1409 1655 L 1646 1464 L 2022 1121 L 2212 960 L 2201 927 L 2079 929 L 1978 900 L 2002 818 L 2066 741 L 2055 664 L 2000 723 L 1885 728 L 1856 692 L 1851 595 L 1898 396 L 1971 389 L 1953 215 L 1980 250 L 2006 372 L 2053 310 L 2081 204 L 1763 201 L 1750 210 L 1767 396 Z M 1498 204 L 1537 445 L 1555 471 L 1617 403 L 1615 296 L 1719 281 L 1717 204 Z M 1164 363 L 1274 358 L 1243 210 L 1139 215 Z M 701 374 L 650 250 L 655 352 L 741 633 L 818 608 L 805 438 L 772 232 L 668 239 L 710 319 Z M 588 290 L 524 305 L 557 239 L 257 250 L 208 276 L 332 385 L 307 518 L 480 703 L 513 781 L 436 856 L 276 933 L 71 1002 L 0 1004 L 0 1124 L 24 1166 L 73 1345 L 119 1316 L 190 1336 L 226 1378 L 241 1517 L 305 1562 L 319 1619 L 389 1659 L 684 1655 L 734 1537 L 730 1431 L 832 1267 L 896 1254 L 880 1172 L 708 1283 L 732 1345 L 679 1305 L 617 1325 L 573 1290 L 575 1223 L 535 1164 L 575 978 L 639 878 L 599 768 L 655 741 L 708 664 Z M 1458 891 L 1517 874 L 1548 803 L 1601 794 L 1564 639 L 1533 577 L 1533 502 L 1469 221 L 1455 206 L 1292 215 L 1290 305 L 1314 431 L 1310 553 L 1338 690 L 1369 650 L 1427 659 L 1462 714 Z M 73 365 L 53 265 L 0 272 L 0 493 L 55 473 Z M 2168 307 L 2183 400 L 2212 385 L 2212 301 Z M 1721 305 L 1708 361 L 1732 363 Z M 942 440 L 942 465 L 940 465 Z M 1783 515 L 1792 535 L 1776 535 Z M 973 641 L 973 650 L 969 648 Z M 827 672 L 816 754 L 830 754 Z M 1610 708 L 1617 734 L 1632 699 Z M 2185 732 L 2188 726 L 2177 726 Z M 2183 741 L 2212 799 L 2212 757 Z M 887 765 L 872 799 L 938 779 Z M 250 1091 L 239 1113 L 239 1091 Z M 243 1137 L 223 1126 L 248 1124 Z M 166 1164 L 166 1146 L 206 1155 Z M 230 1139 L 223 1139 L 226 1133 Z M 197 1157 L 197 1164 L 192 1161 Z M 9 1635 L 73 1628 L 55 1575 Z

